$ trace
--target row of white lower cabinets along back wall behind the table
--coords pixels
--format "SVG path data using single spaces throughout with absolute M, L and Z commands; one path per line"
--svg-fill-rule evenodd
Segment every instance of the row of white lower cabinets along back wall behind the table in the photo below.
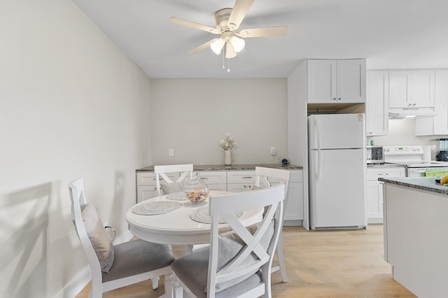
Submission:
M 255 185 L 255 171 L 197 171 L 202 180 L 209 186 L 209 190 L 228 192 L 244 192 L 252 190 Z M 290 171 L 290 186 L 288 204 L 285 213 L 285 225 L 301 225 L 304 218 L 303 206 L 303 171 Z M 168 175 L 172 180 L 179 178 L 179 173 Z M 157 197 L 155 173 L 151 171 L 137 171 L 137 203 L 145 199 Z M 272 184 L 278 181 L 269 181 Z

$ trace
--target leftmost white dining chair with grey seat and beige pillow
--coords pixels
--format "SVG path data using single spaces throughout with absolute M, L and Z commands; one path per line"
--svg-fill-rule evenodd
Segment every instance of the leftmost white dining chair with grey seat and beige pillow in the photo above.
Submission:
M 73 225 L 92 273 L 89 298 L 148 279 L 156 289 L 159 276 L 165 279 L 165 296 L 172 297 L 171 247 L 141 239 L 114 245 L 96 208 L 85 199 L 83 178 L 69 183 L 69 193 Z

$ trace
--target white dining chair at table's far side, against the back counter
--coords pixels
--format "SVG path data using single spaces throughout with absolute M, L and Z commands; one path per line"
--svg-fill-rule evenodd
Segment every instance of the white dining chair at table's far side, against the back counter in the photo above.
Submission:
M 157 186 L 158 195 L 162 195 L 162 187 L 164 188 L 163 194 L 168 192 L 176 192 L 183 190 L 182 181 L 190 176 L 190 180 L 193 180 L 193 164 L 172 164 L 166 166 L 154 166 L 155 184 Z M 179 173 L 179 178 L 173 181 L 167 173 Z M 161 183 L 161 181 L 165 183 Z

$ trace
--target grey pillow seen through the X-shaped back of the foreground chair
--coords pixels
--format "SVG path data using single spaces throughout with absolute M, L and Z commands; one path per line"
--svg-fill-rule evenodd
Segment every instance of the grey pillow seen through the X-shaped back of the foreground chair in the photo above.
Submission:
M 248 229 L 248 232 L 251 234 L 255 234 L 260 224 L 255 224 L 246 227 Z M 260 245 L 262 248 L 267 249 L 269 246 L 269 243 L 271 242 L 272 236 L 274 235 L 274 221 L 269 223 L 269 227 L 267 228 L 267 231 L 262 236 L 262 239 L 260 240 Z M 227 232 L 224 234 L 221 234 L 218 239 L 218 271 L 223 269 L 225 265 L 232 260 L 241 249 L 246 246 L 244 241 L 241 240 L 241 238 L 237 235 L 235 232 Z M 242 262 L 239 267 L 248 267 L 251 263 L 258 262 L 258 257 L 255 255 L 255 253 L 251 253 L 248 255 L 246 260 Z M 252 276 L 255 274 L 256 271 L 253 271 L 251 273 L 245 274 L 244 276 L 239 276 L 237 278 L 234 278 L 230 281 L 224 281 L 222 283 L 216 284 L 216 292 L 221 292 L 222 290 L 225 290 L 227 288 L 230 288 L 232 285 L 235 285 L 236 283 L 240 283 L 241 281 L 244 281 L 249 276 Z M 207 287 L 205 287 L 204 292 L 207 292 Z

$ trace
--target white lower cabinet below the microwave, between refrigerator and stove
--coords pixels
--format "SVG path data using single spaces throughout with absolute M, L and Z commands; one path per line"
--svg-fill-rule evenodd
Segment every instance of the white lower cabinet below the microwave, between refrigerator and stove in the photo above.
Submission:
M 404 166 L 369 168 L 367 167 L 367 223 L 383 222 L 383 183 L 378 178 L 405 177 Z

